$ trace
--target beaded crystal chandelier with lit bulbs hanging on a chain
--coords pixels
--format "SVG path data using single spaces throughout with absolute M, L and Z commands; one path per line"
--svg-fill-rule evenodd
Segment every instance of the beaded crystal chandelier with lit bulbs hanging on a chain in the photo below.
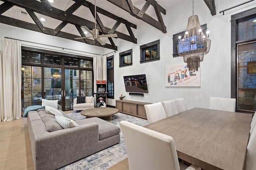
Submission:
M 210 50 L 211 40 L 208 39 L 209 31 L 204 35 L 198 16 L 194 15 L 194 0 L 192 2 L 192 16 L 188 18 L 188 25 L 183 39 L 179 36 L 177 45 L 179 56 L 187 63 L 189 71 L 198 71 L 199 63 L 204 60 L 204 55 Z

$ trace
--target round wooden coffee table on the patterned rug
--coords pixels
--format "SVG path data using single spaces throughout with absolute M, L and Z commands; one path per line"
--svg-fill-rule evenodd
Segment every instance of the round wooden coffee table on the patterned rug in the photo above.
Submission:
M 94 107 L 81 111 L 81 115 L 89 117 L 99 117 L 105 120 L 112 120 L 112 115 L 116 114 L 119 110 L 113 107 Z

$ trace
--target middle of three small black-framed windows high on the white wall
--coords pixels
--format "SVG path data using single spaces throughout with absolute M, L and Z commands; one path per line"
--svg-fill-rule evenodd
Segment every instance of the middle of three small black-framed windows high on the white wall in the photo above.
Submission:
M 140 46 L 140 63 L 160 60 L 160 40 Z

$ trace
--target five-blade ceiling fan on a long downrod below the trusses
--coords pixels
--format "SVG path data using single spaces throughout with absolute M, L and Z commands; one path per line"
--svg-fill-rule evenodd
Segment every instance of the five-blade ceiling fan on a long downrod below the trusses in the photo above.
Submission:
M 116 34 L 102 34 L 102 35 L 99 35 L 99 30 L 96 28 L 96 0 L 94 0 L 94 15 L 95 15 L 95 28 L 92 29 L 92 31 L 86 27 L 86 26 L 81 26 L 83 27 L 84 29 L 86 29 L 86 31 L 88 31 L 90 34 L 92 34 L 91 37 L 94 38 L 94 40 L 97 40 L 101 45 L 105 45 L 105 43 L 100 39 L 100 37 L 117 37 Z M 91 38 L 91 37 L 78 37 L 78 38 L 75 38 L 75 39 L 85 39 L 85 38 Z

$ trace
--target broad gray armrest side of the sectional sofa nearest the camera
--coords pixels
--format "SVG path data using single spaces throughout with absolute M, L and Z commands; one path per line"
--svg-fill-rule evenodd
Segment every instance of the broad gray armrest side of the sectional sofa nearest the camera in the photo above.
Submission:
M 95 152 L 98 148 L 99 127 L 96 123 L 88 123 L 54 131 L 37 133 L 42 128 L 33 128 L 34 142 L 31 144 L 35 168 L 58 169 L 63 166 L 63 162 L 70 164 L 76 160 L 84 158 Z M 36 130 L 38 129 L 38 130 Z M 34 163 L 35 163 L 34 162 Z M 49 162 L 46 164 L 46 162 Z

